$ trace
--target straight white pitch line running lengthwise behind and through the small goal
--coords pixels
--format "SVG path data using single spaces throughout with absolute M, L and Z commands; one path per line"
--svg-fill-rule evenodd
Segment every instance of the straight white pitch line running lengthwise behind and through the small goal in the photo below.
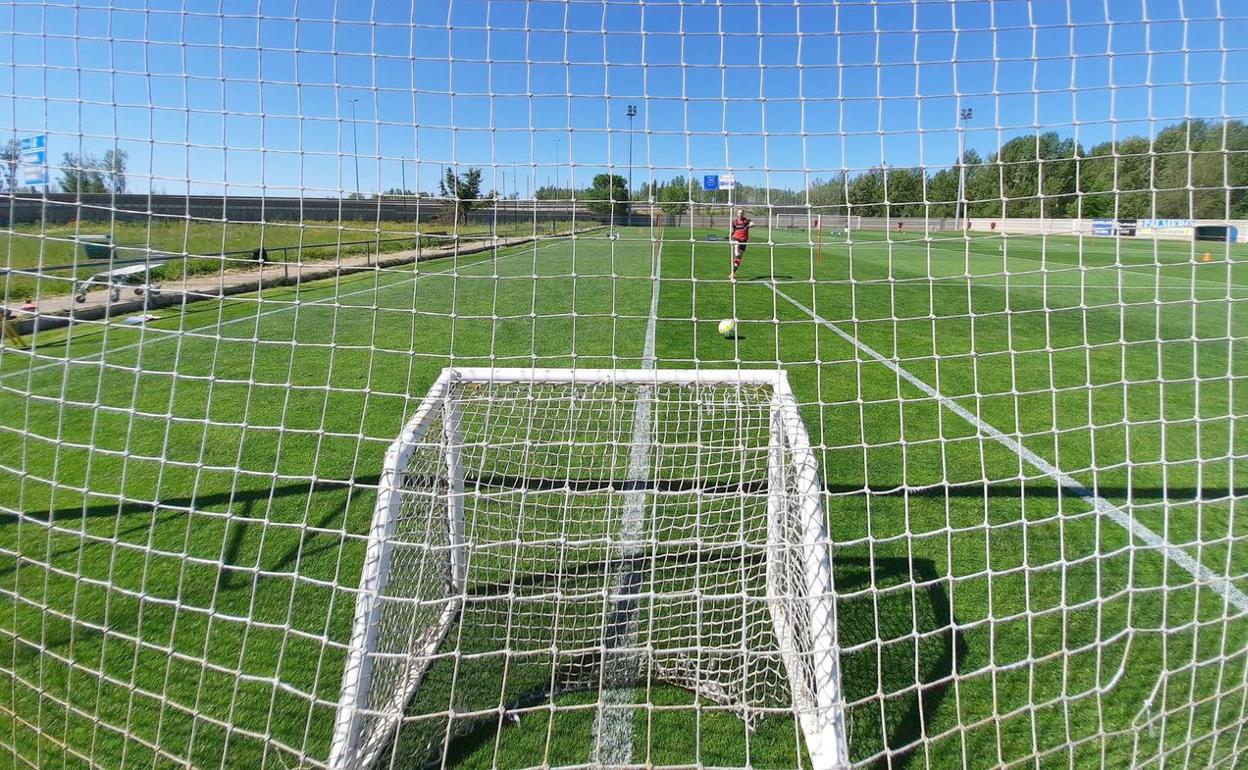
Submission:
M 645 344 L 641 348 L 641 368 L 654 368 L 654 334 L 659 319 L 659 286 L 663 276 L 663 241 L 659 241 L 654 260 L 653 288 L 650 290 L 650 317 L 645 323 Z M 603 689 L 598 714 L 594 720 L 595 761 L 613 768 L 633 761 L 633 703 L 631 678 L 634 653 L 614 653 L 613 648 L 629 650 L 636 646 L 638 607 L 633 598 L 639 592 L 643 558 L 641 529 L 645 515 L 645 482 L 650 477 L 651 388 L 636 389 L 636 412 L 633 414 L 633 438 L 628 457 L 628 482 L 620 520 L 620 567 L 612 579 L 612 597 L 615 607 L 607 628 L 604 650 Z

